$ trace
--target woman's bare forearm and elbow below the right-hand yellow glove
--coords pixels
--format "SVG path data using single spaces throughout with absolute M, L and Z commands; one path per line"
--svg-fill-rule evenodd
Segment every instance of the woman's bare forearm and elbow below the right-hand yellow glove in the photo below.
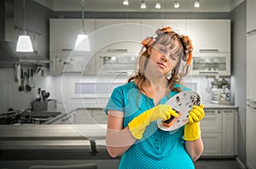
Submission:
M 204 144 L 201 137 L 195 141 L 185 141 L 185 149 L 187 150 L 192 161 L 196 161 L 204 150 Z

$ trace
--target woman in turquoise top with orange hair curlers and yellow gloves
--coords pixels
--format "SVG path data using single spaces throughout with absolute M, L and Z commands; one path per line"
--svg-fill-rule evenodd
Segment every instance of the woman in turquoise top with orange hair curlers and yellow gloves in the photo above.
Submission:
M 194 105 L 189 122 L 176 132 L 156 125 L 158 119 L 178 117 L 165 103 L 188 90 L 180 82 L 188 72 L 192 44 L 170 27 L 158 29 L 156 35 L 143 40 L 135 75 L 116 87 L 108 101 L 108 153 L 121 155 L 119 168 L 192 169 L 203 151 L 199 124 L 203 105 Z

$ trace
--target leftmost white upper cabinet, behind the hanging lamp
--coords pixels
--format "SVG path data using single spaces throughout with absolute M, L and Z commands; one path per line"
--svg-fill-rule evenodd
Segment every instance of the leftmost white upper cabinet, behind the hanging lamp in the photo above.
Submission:
M 76 38 L 83 33 L 82 20 L 50 19 L 49 20 L 49 54 L 50 74 L 62 72 L 95 73 L 95 59 L 90 52 L 73 51 Z M 85 33 L 89 36 L 90 48 L 95 48 L 95 20 L 84 20 Z

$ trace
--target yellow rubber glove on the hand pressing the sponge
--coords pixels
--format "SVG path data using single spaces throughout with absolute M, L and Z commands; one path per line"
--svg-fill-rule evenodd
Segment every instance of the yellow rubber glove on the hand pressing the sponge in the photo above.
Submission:
M 172 110 L 170 105 L 159 104 L 135 117 L 129 122 L 128 127 L 134 138 L 141 139 L 143 138 L 143 132 L 151 121 L 156 121 L 158 119 L 166 121 L 171 118 L 171 115 L 175 117 L 179 116 L 175 110 Z

